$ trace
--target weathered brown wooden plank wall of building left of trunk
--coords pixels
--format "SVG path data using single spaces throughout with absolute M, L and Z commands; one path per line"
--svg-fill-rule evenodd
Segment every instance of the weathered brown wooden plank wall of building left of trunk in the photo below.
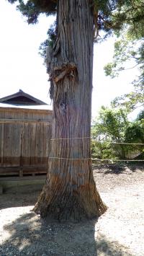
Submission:
M 52 111 L 0 107 L 0 176 L 47 172 Z

